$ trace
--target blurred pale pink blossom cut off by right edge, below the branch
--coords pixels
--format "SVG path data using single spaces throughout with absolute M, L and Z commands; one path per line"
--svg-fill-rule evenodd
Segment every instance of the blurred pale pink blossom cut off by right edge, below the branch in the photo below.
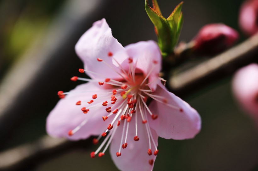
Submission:
M 258 126 L 258 65 L 250 64 L 237 71 L 233 92 L 241 106 L 255 119 Z

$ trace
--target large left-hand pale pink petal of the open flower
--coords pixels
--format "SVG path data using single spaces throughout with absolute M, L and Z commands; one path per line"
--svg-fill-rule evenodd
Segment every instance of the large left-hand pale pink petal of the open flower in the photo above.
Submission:
M 88 92 L 87 92 L 88 91 Z M 87 101 L 92 100 L 92 95 L 107 92 L 100 89 L 98 83 L 86 83 L 78 85 L 71 94 L 61 99 L 55 108 L 50 112 L 47 118 L 47 132 L 53 137 L 66 137 L 71 140 L 86 139 L 91 135 L 99 135 L 104 132 L 109 123 L 103 121 L 102 116 L 108 113 L 105 106 L 91 109 L 87 114 L 81 111 L 84 106 L 89 106 Z M 77 101 L 81 101 L 81 105 L 76 105 Z M 93 99 L 92 105 L 102 102 L 102 100 Z M 78 132 L 72 136 L 68 136 L 68 132 L 77 127 L 85 119 L 89 119 Z M 110 118 L 112 119 L 112 118 Z

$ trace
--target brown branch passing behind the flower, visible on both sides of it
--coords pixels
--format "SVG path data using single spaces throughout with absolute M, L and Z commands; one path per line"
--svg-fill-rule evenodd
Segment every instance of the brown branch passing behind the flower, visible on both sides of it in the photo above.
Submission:
M 227 50 L 226 52 L 179 74 L 176 77 L 171 77 L 169 80 L 169 85 L 172 89 L 178 92 L 184 92 L 184 94 L 191 93 L 199 87 L 210 84 L 210 81 L 214 80 L 215 78 L 218 79 L 227 74 L 232 74 L 238 67 L 257 61 L 257 54 L 258 34 Z M 89 141 L 87 140 L 81 142 Z M 53 139 L 45 136 L 35 143 L 27 144 L 0 153 L 0 168 L 5 170 L 24 168 L 27 167 L 28 163 L 31 163 L 31 161 L 35 158 L 47 159 L 53 153 L 61 152 L 68 146 L 70 148 L 78 147 L 78 143 L 68 143 L 65 140 Z M 44 153 L 46 150 L 48 150 L 48 152 Z M 13 155 L 14 153 L 15 155 Z M 8 157 L 16 156 L 16 154 L 19 154 L 17 158 Z M 29 162 L 29 160 L 31 161 Z

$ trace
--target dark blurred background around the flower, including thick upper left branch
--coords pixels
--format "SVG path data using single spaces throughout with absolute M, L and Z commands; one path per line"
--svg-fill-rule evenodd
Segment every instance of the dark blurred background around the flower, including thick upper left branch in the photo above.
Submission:
M 167 17 L 180 1 L 158 3 Z M 224 23 L 239 31 L 238 43 L 242 42 L 246 37 L 238 28 L 241 3 L 243 0 L 184 0 L 180 40 L 190 41 L 205 24 Z M 74 46 L 94 21 L 106 18 L 123 46 L 156 40 L 144 0 L 1 0 L 0 16 L 0 156 L 46 135 L 46 117 L 59 101 L 57 91 L 81 84 L 70 81 L 83 67 Z M 258 170 L 258 131 L 234 100 L 232 76 L 190 93 L 175 92 L 199 112 L 202 130 L 191 140 L 159 138 L 154 170 Z M 109 154 L 90 158 L 97 148 L 91 139 L 74 144 L 63 143 L 63 148 L 0 169 L 117 170 Z M 8 157 L 15 160 L 16 155 Z M 0 166 L 4 164 L 0 160 Z

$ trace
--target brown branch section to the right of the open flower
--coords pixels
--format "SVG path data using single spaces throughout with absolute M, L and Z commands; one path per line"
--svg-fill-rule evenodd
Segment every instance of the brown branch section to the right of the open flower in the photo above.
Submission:
M 257 62 L 258 34 L 243 43 L 168 79 L 169 87 L 177 94 L 187 94 L 203 87 L 212 80 L 232 74 L 239 67 Z

